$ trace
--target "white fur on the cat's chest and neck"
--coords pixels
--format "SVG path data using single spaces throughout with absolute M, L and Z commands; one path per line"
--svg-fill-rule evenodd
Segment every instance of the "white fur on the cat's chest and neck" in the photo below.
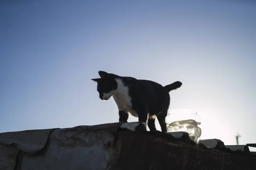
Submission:
M 121 79 L 116 79 L 117 89 L 113 98 L 116 102 L 119 111 L 131 113 L 132 116 L 138 117 L 136 111 L 132 109 L 131 97 L 128 94 L 128 87 L 126 87 Z

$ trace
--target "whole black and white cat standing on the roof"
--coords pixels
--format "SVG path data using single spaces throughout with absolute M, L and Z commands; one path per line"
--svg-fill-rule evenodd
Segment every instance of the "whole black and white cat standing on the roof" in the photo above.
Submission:
M 165 118 L 170 104 L 169 92 L 180 88 L 181 82 L 163 87 L 150 80 L 121 77 L 105 71 L 99 71 L 99 76 L 101 78 L 92 79 L 97 82 L 99 98 L 108 100 L 113 96 L 119 110 L 119 122 L 127 122 L 130 113 L 154 131 L 157 117 L 162 132 L 167 131 Z

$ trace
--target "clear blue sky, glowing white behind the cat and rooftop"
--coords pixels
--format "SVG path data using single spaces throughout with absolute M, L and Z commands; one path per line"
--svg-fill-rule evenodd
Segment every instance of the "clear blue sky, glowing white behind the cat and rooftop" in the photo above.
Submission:
M 256 143 L 255 18 L 251 0 L 1 0 L 0 132 L 118 122 L 102 70 L 180 81 L 169 110 L 196 111 L 199 139 Z

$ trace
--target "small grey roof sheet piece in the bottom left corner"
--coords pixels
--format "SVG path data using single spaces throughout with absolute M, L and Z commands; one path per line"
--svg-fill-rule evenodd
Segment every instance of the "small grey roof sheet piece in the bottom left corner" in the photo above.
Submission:
M 13 145 L 0 144 L 0 170 L 14 170 L 19 152 Z

